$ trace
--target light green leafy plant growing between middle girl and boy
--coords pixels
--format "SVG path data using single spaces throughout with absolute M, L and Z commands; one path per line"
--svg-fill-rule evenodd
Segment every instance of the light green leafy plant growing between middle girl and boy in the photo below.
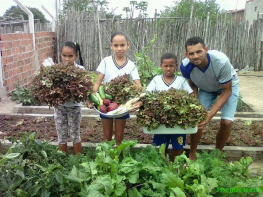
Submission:
M 157 40 L 157 34 L 154 35 L 149 45 L 144 47 L 141 52 L 135 53 L 135 64 L 137 65 L 140 80 L 143 86 L 147 86 L 155 75 L 162 74 L 162 69 L 155 66 L 150 60 L 148 54 L 152 51 L 152 47 Z

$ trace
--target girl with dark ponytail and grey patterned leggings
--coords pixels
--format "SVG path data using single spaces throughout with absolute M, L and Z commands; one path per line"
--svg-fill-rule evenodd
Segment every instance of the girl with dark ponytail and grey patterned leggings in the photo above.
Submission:
M 85 69 L 75 63 L 79 57 L 80 64 L 83 65 L 83 60 L 80 53 L 80 46 L 78 43 L 67 41 L 63 44 L 61 49 L 61 59 L 64 64 L 75 65 L 81 69 Z M 74 153 L 81 153 L 81 139 L 80 139 L 80 121 L 81 121 L 81 103 L 69 101 L 63 105 L 54 108 L 54 119 L 58 133 L 58 143 L 60 150 L 67 152 L 68 132 L 70 133 L 73 142 Z

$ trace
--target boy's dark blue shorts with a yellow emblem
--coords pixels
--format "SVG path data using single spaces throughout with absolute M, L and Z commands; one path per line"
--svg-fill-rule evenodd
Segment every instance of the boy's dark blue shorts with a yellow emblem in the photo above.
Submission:
M 166 144 L 167 149 L 170 141 L 174 150 L 183 149 L 186 141 L 186 134 L 156 134 L 153 136 L 153 144 L 155 146 Z

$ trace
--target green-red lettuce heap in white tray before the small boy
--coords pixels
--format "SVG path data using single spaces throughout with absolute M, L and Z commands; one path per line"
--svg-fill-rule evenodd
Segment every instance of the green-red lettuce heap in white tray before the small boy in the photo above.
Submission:
M 179 125 L 185 129 L 197 126 L 205 117 L 206 111 L 194 95 L 171 88 L 147 93 L 136 121 L 148 130 L 157 129 L 160 125 L 167 128 Z

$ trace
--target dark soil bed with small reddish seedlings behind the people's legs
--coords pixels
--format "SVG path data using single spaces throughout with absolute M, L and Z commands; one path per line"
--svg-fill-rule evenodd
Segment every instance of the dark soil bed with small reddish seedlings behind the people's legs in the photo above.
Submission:
M 199 144 L 214 145 L 216 132 L 219 128 L 219 121 L 212 121 L 203 131 Z M 37 138 L 40 140 L 57 141 L 57 133 L 53 118 L 0 115 L 0 139 L 5 137 L 19 138 L 21 133 L 37 131 Z M 81 139 L 82 142 L 101 142 L 102 125 L 99 119 L 82 118 Z M 189 137 L 189 136 L 188 136 Z M 138 140 L 141 144 L 150 144 L 152 135 L 144 134 L 136 124 L 136 119 L 128 119 L 124 131 L 125 140 Z M 70 141 L 70 139 L 69 139 Z M 189 140 L 187 140 L 189 144 Z M 228 146 L 254 146 L 263 147 L 263 120 L 262 121 L 234 121 L 231 136 L 228 139 Z

